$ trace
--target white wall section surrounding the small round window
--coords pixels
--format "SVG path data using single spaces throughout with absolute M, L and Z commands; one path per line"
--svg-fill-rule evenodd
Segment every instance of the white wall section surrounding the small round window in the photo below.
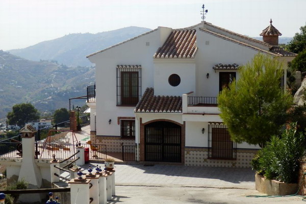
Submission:
M 181 78 L 178 86 L 169 84 L 171 74 L 177 74 Z M 195 63 L 186 59 L 155 59 L 154 60 L 154 94 L 176 95 L 195 90 Z

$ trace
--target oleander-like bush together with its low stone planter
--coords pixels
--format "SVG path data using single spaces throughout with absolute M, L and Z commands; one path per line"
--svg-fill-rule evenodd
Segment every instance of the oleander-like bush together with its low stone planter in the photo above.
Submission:
M 256 189 L 269 195 L 291 195 L 298 189 L 299 162 L 305 154 L 304 134 L 291 123 L 282 136 L 273 136 L 252 160 Z

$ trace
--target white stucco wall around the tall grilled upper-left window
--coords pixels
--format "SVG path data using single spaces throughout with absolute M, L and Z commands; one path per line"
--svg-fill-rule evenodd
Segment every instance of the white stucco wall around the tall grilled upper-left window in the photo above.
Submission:
M 120 136 L 117 117 L 134 117 L 135 107 L 116 106 L 116 66 L 141 65 L 141 91 L 154 86 L 153 55 L 172 29 L 158 30 L 89 57 L 96 64 L 96 134 Z M 147 46 L 147 42 L 149 45 Z M 109 124 L 109 119 L 112 123 Z

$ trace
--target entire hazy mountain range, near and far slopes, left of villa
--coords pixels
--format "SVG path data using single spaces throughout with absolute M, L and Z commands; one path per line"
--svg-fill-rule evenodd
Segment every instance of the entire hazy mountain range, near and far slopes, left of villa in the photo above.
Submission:
M 128 27 L 69 34 L 23 49 L 0 50 L 0 118 L 6 117 L 14 104 L 25 102 L 32 103 L 41 115 L 69 108 L 69 98 L 86 95 L 86 86 L 95 81 L 95 67 L 86 55 L 147 31 L 150 29 Z M 71 106 L 84 103 L 72 100 Z

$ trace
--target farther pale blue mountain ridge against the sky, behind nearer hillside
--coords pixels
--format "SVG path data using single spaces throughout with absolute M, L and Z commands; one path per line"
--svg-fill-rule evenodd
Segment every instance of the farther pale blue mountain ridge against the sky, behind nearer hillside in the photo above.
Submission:
M 33 61 L 55 60 L 59 64 L 63 63 L 69 67 L 92 66 L 93 64 L 86 59 L 87 55 L 148 31 L 150 29 L 127 27 L 97 34 L 69 34 L 22 49 L 12 49 L 8 52 Z

